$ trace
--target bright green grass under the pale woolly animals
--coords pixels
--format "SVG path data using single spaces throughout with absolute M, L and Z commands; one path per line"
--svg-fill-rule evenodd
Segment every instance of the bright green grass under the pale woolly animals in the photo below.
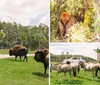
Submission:
M 81 70 L 76 80 L 71 79 L 69 73 L 67 73 L 66 76 L 64 76 L 64 73 L 59 73 L 58 76 L 56 74 L 56 71 L 50 73 L 50 85 L 100 85 L 100 73 L 98 74 L 98 79 L 93 79 L 92 73 L 87 72 L 86 75 L 84 75 L 84 71 Z

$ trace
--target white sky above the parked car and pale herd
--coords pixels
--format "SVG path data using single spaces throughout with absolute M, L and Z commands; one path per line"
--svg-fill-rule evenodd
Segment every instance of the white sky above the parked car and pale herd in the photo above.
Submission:
M 51 43 L 50 52 L 60 55 L 62 52 L 66 54 L 79 54 L 97 59 L 97 54 L 93 49 L 100 48 L 99 43 Z

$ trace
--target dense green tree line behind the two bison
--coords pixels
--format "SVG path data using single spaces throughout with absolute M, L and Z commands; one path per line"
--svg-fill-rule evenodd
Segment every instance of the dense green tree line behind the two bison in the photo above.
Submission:
M 10 48 L 15 44 L 21 44 L 28 49 L 49 47 L 49 27 L 40 24 L 39 26 L 22 26 L 21 24 L 0 22 L 0 48 Z

